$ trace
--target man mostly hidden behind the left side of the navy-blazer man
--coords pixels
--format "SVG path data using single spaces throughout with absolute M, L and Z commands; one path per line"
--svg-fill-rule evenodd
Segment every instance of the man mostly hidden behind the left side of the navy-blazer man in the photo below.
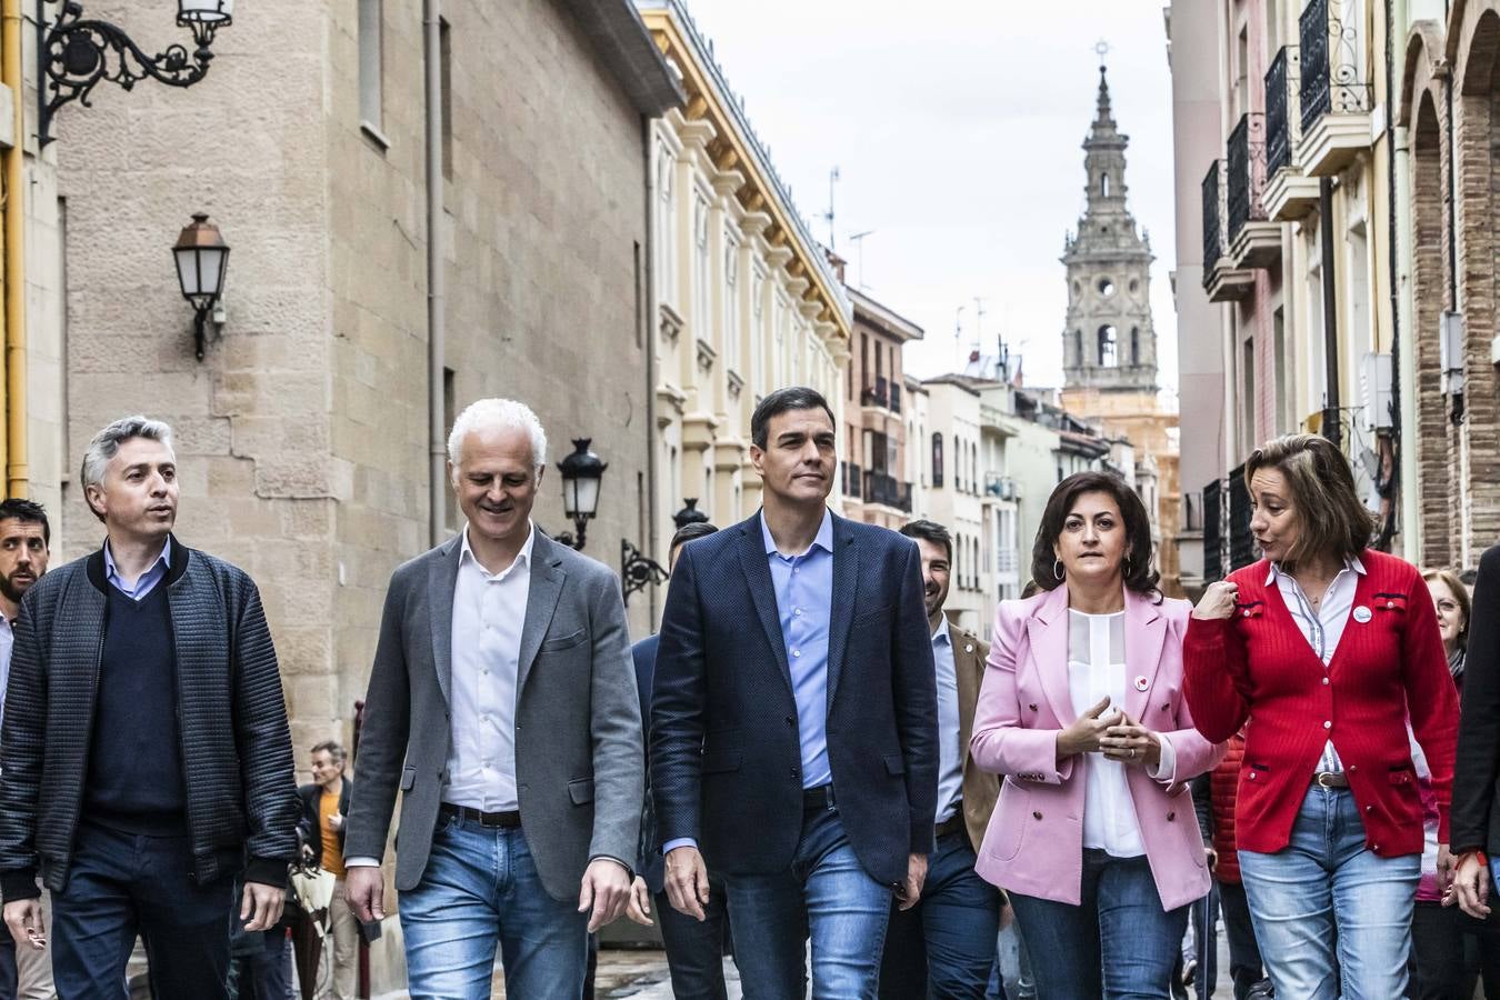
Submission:
M 694 538 L 704 538 L 718 531 L 708 522 L 684 525 L 672 535 L 668 552 L 668 568 L 676 568 L 682 546 Z M 630 648 L 636 658 L 636 688 L 640 694 L 640 712 L 651 714 L 651 684 L 656 675 L 656 654 L 660 636 L 646 636 Z M 696 1000 L 724 1000 L 724 945 L 729 943 L 729 910 L 724 907 L 724 882 L 717 873 L 708 874 L 708 903 L 704 904 L 704 919 L 696 921 L 678 913 L 669 906 L 663 885 L 664 865 L 657 850 L 656 817 L 651 808 L 651 789 L 646 789 L 646 805 L 640 837 L 640 879 L 657 903 L 662 921 L 662 943 L 666 946 L 666 964 L 672 970 L 672 993 Z

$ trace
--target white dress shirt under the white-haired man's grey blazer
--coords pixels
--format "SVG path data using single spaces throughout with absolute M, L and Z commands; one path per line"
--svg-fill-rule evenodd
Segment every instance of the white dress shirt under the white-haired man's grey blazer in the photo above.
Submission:
M 531 592 L 532 526 L 516 561 L 489 573 L 464 529 L 453 586 L 453 738 L 444 802 L 484 813 L 518 808 L 516 681 Z

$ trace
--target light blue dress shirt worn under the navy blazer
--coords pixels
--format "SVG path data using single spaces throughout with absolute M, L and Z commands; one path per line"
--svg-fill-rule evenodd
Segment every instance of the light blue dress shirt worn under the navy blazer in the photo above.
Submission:
M 816 789 L 834 780 L 828 763 L 828 630 L 834 606 L 834 517 L 824 508 L 813 544 L 795 556 L 776 549 L 771 529 L 760 514 L 760 537 L 771 567 L 776 610 L 782 619 L 782 645 L 792 675 L 796 702 L 796 732 L 802 747 L 802 787 Z M 668 841 L 662 853 L 696 847 L 690 837 Z

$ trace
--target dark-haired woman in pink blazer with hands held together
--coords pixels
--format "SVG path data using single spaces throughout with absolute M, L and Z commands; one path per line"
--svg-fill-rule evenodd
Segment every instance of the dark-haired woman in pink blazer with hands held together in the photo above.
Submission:
M 1041 1000 L 1168 996 L 1209 891 L 1186 781 L 1224 748 L 1192 729 L 1191 606 L 1161 597 L 1150 555 L 1134 490 L 1071 475 L 1036 534 L 1042 592 L 994 618 L 970 753 L 1005 781 L 975 868 L 1010 892 Z

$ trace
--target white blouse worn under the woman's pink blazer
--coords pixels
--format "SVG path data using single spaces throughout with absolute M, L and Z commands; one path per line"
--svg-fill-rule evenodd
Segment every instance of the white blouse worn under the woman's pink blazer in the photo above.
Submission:
M 1068 609 L 1068 691 L 1072 711 L 1080 717 L 1106 696 L 1110 708 L 1101 718 L 1125 706 L 1125 612 L 1089 615 Z M 1149 771 L 1158 781 L 1170 781 L 1174 754 L 1161 736 L 1161 763 Z M 1125 778 L 1126 765 L 1102 753 L 1089 754 L 1083 798 L 1083 846 L 1113 858 L 1138 858 L 1146 853 L 1140 840 L 1136 801 Z

